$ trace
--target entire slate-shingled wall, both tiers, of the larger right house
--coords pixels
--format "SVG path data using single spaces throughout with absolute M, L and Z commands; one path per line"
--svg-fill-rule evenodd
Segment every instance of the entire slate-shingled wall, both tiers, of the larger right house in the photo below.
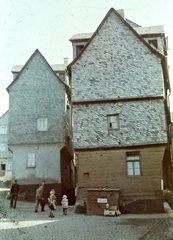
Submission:
M 75 104 L 75 148 L 166 143 L 163 101 L 142 100 L 153 96 L 164 96 L 161 59 L 112 12 L 72 65 L 72 100 L 141 101 Z M 107 114 L 117 113 L 120 130 L 108 131 Z

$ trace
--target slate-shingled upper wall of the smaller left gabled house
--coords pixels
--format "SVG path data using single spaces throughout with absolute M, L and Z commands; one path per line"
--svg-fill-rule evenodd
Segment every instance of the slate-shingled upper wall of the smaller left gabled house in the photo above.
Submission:
M 9 144 L 62 142 L 65 137 L 65 86 L 37 53 L 10 87 Z M 48 131 L 37 132 L 37 119 Z

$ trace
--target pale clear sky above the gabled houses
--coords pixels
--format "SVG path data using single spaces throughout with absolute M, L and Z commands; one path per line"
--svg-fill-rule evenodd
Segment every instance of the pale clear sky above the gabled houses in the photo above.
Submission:
M 14 65 L 24 65 L 36 49 L 50 65 L 64 57 L 70 63 L 69 39 L 94 32 L 111 7 L 142 27 L 164 25 L 173 92 L 173 0 L 0 0 L 0 116 L 9 107 Z M 173 112 L 173 94 L 170 103 Z

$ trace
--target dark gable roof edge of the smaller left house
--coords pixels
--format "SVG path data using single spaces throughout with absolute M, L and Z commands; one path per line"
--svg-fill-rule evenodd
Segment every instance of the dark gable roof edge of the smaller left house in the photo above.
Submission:
M 56 78 L 65 85 L 65 87 L 68 87 L 68 85 L 66 83 L 64 83 L 57 75 L 56 73 L 53 71 L 52 67 L 50 66 L 50 64 L 47 62 L 47 60 L 45 59 L 45 57 L 40 53 L 40 51 L 38 49 L 35 50 L 35 52 L 31 55 L 31 57 L 28 59 L 28 61 L 25 63 L 25 65 L 22 67 L 21 71 L 19 72 L 19 74 L 17 75 L 17 77 L 10 83 L 10 85 L 6 88 L 6 90 L 9 92 L 10 87 L 14 84 L 14 82 L 16 82 L 19 78 L 20 75 L 22 74 L 22 72 L 24 71 L 24 69 L 27 67 L 27 65 L 29 64 L 29 62 L 34 58 L 34 56 L 39 53 L 41 55 L 41 57 L 44 59 L 44 61 L 47 63 L 47 65 L 49 66 L 50 70 L 52 71 L 52 73 L 56 76 Z

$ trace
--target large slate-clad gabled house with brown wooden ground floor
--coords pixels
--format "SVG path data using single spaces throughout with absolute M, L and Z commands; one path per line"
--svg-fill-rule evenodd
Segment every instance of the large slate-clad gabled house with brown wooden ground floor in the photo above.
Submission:
M 111 8 L 93 34 L 70 41 L 76 211 L 86 202 L 88 214 L 100 214 L 107 201 L 162 212 L 161 190 L 172 187 L 163 27 L 142 28 Z

